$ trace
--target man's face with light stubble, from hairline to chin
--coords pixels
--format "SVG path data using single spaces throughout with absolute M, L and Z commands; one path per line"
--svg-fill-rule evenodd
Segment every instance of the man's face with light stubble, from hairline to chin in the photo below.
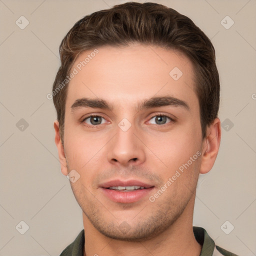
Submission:
M 192 214 L 203 149 L 193 67 L 180 52 L 132 44 L 99 47 L 79 70 L 90 52 L 71 69 L 62 172 L 72 171 L 85 222 L 145 240 Z

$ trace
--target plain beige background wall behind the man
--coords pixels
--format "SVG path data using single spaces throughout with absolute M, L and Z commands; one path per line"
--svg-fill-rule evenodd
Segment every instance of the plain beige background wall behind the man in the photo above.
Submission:
M 83 228 L 81 209 L 60 172 L 55 109 L 46 94 L 59 67 L 58 46 L 74 22 L 122 2 L 0 0 L 1 256 L 58 255 Z M 219 246 L 256 255 L 256 1 L 154 2 L 189 16 L 211 38 L 221 81 L 219 117 L 229 119 L 214 167 L 199 178 L 194 225 Z M 24 29 L 15 23 L 21 15 L 29 21 Z M 220 23 L 226 15 L 234 21 L 229 29 Z M 21 118 L 28 123 L 23 130 Z M 24 234 L 15 228 L 21 220 L 29 226 Z M 234 226 L 229 234 L 220 228 L 226 220 Z

